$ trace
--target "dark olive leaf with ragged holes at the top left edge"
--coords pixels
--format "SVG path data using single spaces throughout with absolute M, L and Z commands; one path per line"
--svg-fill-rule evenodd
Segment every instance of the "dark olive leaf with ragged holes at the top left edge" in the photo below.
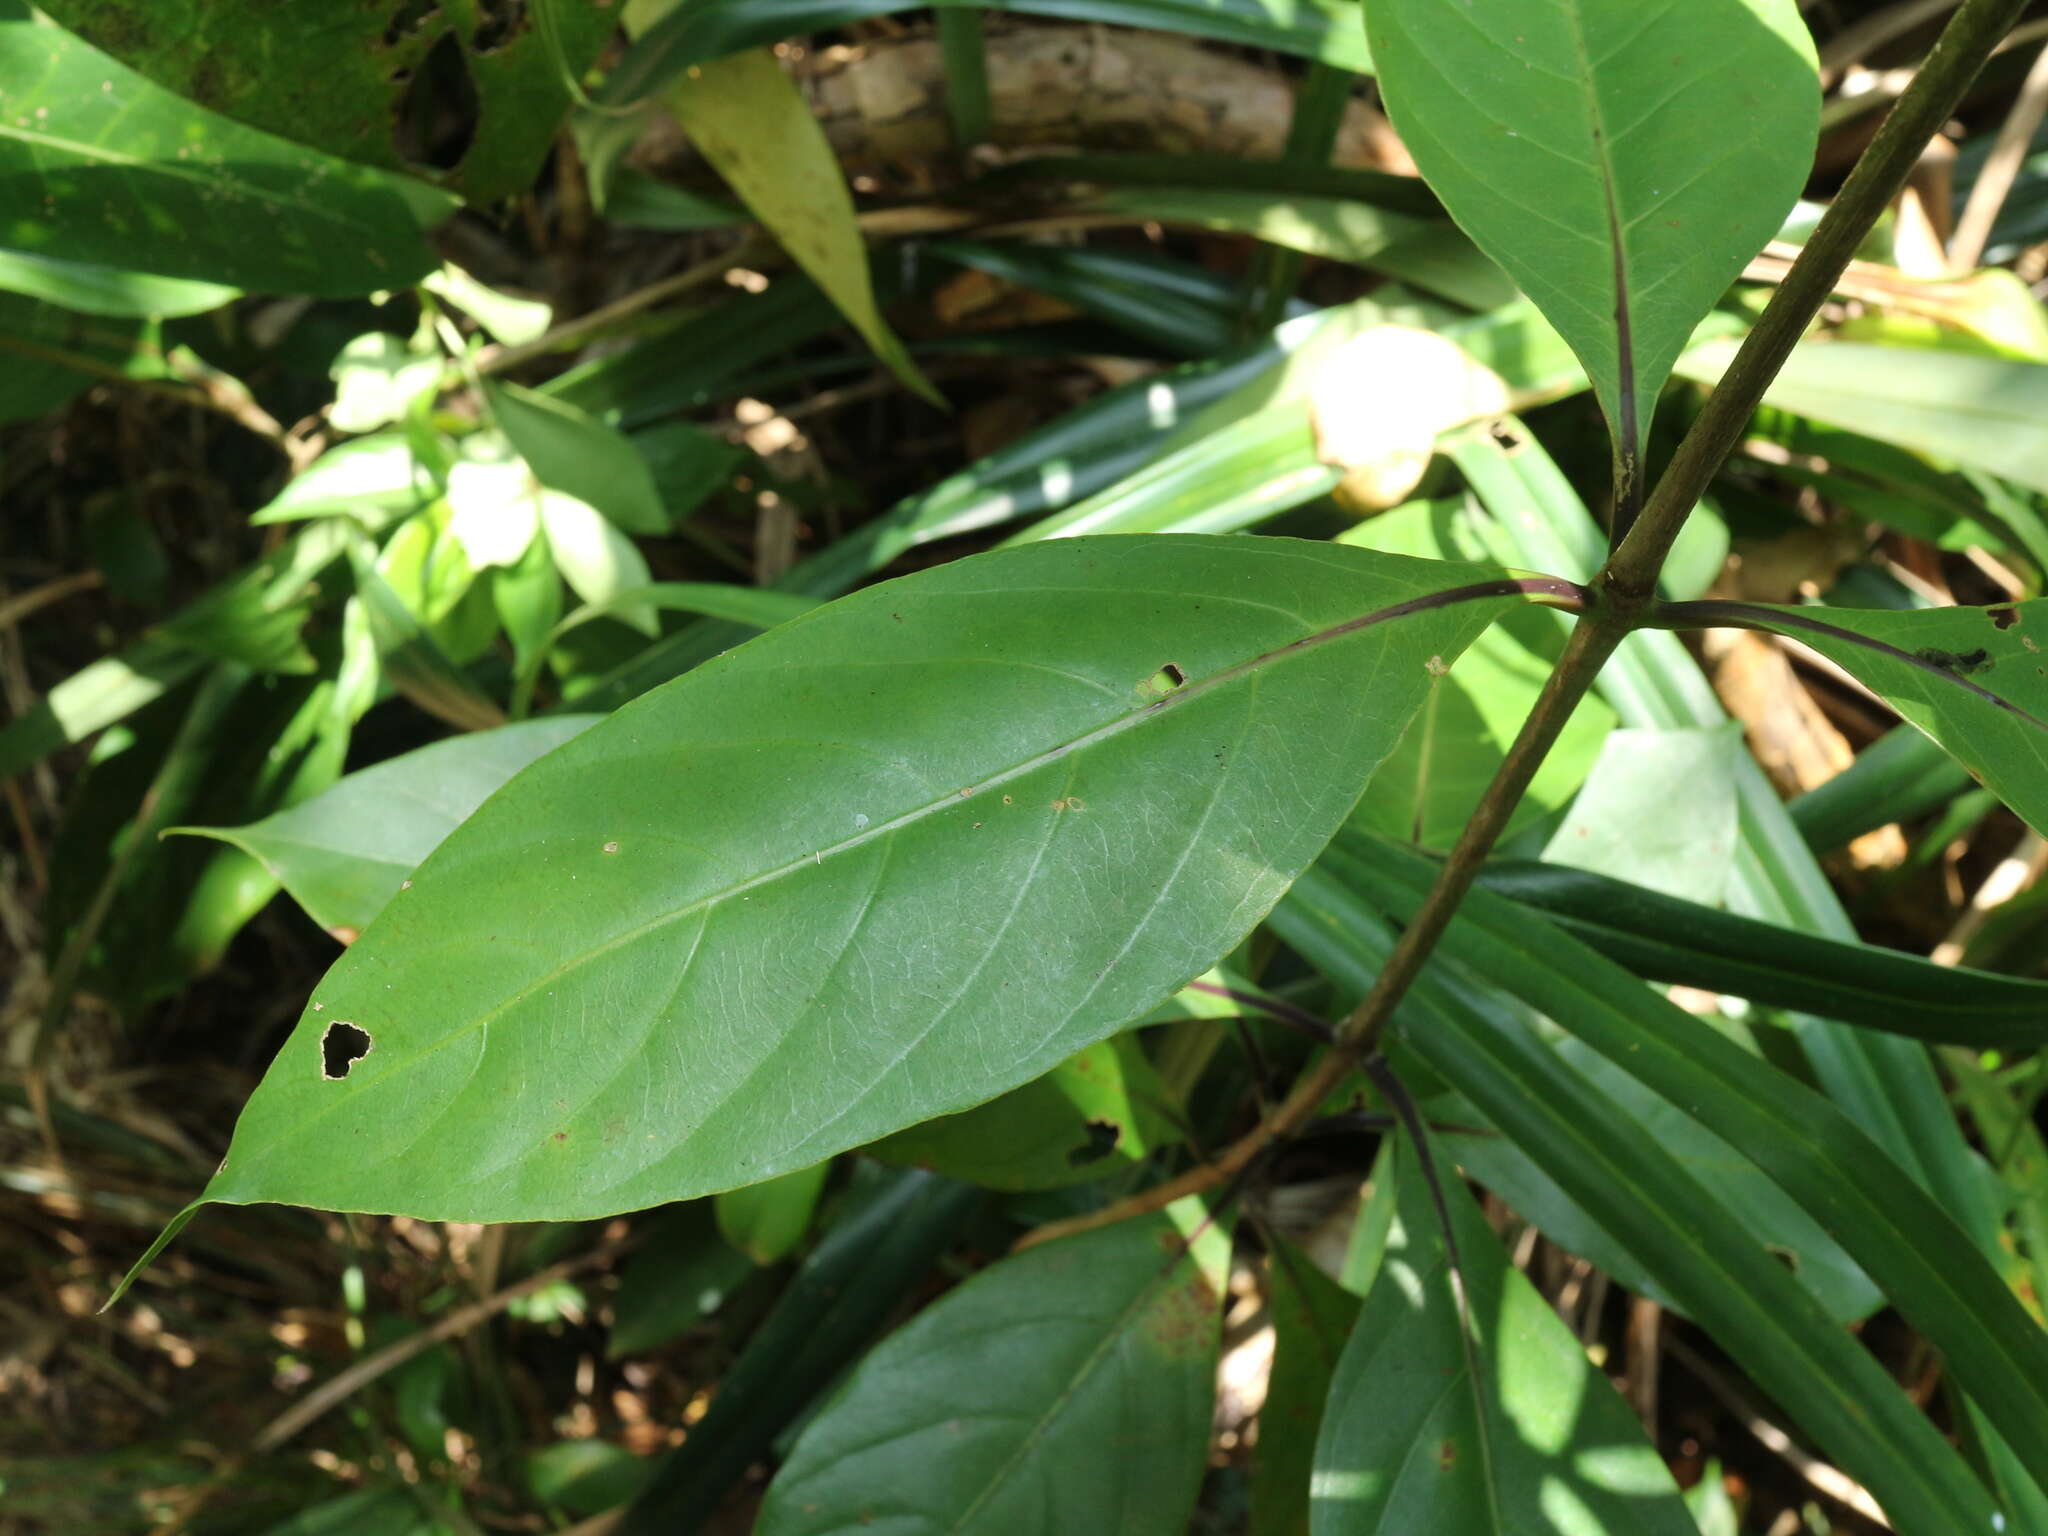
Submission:
M 436 84 L 432 72 L 446 63 L 475 92 L 473 137 L 446 172 L 471 201 L 526 184 L 575 76 L 618 25 L 612 8 L 580 0 L 51 0 L 43 8 L 166 90 L 387 170 L 422 170 L 406 160 L 403 109 L 410 88 Z M 385 287 L 403 281 L 391 274 Z

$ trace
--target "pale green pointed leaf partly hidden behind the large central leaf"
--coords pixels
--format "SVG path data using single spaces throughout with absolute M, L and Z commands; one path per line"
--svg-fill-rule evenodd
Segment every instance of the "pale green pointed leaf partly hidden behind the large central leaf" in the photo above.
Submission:
M 596 715 L 471 731 L 348 774 L 246 827 L 172 827 L 262 860 L 328 932 L 360 934 L 399 885 L 512 774 L 596 725 Z

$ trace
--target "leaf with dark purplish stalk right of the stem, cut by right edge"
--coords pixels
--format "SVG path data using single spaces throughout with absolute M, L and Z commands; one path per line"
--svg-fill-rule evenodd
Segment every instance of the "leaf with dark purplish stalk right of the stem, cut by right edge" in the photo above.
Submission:
M 1917 612 L 1671 602 L 1657 623 L 1769 629 L 1810 645 L 2048 829 L 2048 598 Z

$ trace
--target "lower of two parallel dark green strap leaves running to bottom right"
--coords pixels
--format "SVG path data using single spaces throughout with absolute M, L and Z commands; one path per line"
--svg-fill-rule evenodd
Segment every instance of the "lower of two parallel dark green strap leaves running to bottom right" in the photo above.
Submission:
M 1282 915 L 1284 938 L 1352 995 L 1364 993 L 1393 948 L 1393 932 L 1333 881 L 1313 889 L 1305 881 Z M 1409 993 L 1407 1049 L 1626 1243 L 1821 1450 L 1876 1495 L 1898 1530 L 1997 1530 L 1968 1464 L 1743 1217 L 1556 1051 L 1448 985 L 1452 977 L 1440 967 Z M 1948 1249 L 1929 1255 L 1946 1257 Z

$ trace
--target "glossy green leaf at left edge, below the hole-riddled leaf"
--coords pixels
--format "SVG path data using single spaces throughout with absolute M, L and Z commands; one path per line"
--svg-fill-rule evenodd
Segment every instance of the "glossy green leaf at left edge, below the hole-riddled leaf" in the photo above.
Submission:
M 158 23 L 197 33 L 178 12 L 207 12 L 246 37 L 248 16 L 274 8 L 104 10 L 131 10 L 143 33 Z M 330 63 L 307 68 L 289 94 L 330 78 Z M 55 27 L 0 16 L 0 242 L 18 252 L 317 295 L 403 287 L 436 264 L 389 176 L 201 111 Z M 274 74 L 266 82 L 287 94 Z

